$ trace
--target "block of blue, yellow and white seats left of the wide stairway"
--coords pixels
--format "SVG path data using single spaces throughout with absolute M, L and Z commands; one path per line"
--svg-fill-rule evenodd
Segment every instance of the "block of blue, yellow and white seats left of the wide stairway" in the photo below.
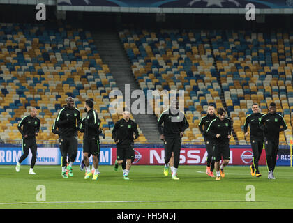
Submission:
M 100 139 L 112 143 L 111 129 L 121 116 L 110 114 L 108 95 L 117 85 L 91 33 L 70 26 L 0 24 L 0 50 L 1 139 L 20 139 L 17 123 L 31 107 L 38 109 L 41 120 L 38 140 L 56 139 L 52 123 L 72 96 L 81 112 L 84 100 L 96 102 L 103 129 Z M 146 141 L 139 131 L 139 140 Z

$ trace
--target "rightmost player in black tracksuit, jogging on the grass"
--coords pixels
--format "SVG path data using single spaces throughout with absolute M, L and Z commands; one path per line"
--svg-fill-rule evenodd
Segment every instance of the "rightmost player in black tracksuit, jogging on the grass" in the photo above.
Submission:
M 283 126 L 283 128 L 280 128 Z M 287 124 L 280 114 L 276 113 L 276 103 L 271 102 L 269 113 L 260 119 L 260 128 L 264 131 L 264 148 L 266 164 L 269 169 L 268 179 L 275 179 L 273 171 L 276 167 L 280 132 L 287 130 Z

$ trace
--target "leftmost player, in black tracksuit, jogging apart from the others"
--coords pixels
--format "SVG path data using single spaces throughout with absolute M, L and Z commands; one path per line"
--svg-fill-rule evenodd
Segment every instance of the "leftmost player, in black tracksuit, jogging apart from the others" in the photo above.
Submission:
M 20 160 L 18 160 L 15 170 L 17 172 L 20 171 L 20 164 L 24 159 L 29 155 L 29 149 L 31 149 L 31 168 L 29 169 L 29 174 L 35 175 L 36 173 L 33 171 L 33 167 L 36 164 L 36 155 L 37 155 L 37 144 L 36 144 L 36 136 L 38 136 L 38 132 L 40 131 L 40 119 L 37 117 L 38 110 L 33 107 L 31 108 L 31 114 L 29 116 L 24 116 L 20 123 L 18 123 L 18 130 L 22 134 L 22 156 Z M 23 125 L 23 128 L 22 128 Z

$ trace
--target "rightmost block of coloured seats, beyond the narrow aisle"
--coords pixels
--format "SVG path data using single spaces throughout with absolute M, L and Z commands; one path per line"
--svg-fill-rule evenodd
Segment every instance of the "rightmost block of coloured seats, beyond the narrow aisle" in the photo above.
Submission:
M 280 144 L 292 136 L 289 106 L 292 98 L 292 45 L 290 33 L 253 33 L 251 31 L 218 31 L 211 36 L 216 67 L 220 75 L 228 112 L 234 123 L 239 144 L 244 138 L 243 125 L 257 102 L 266 114 L 271 102 L 284 116 L 288 129 L 280 133 Z

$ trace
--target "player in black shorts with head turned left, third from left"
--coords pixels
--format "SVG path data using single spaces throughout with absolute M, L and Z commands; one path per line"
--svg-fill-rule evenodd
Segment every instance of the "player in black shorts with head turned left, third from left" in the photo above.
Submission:
M 93 175 L 93 180 L 98 180 L 98 159 L 100 155 L 100 119 L 98 114 L 93 110 L 93 101 L 86 100 L 84 102 L 84 112 L 87 112 L 86 118 L 82 119 L 82 125 L 84 125 L 84 143 L 83 143 L 83 155 L 84 155 L 84 166 L 87 174 L 84 179 L 88 179 Z M 94 173 L 91 173 L 89 167 L 89 155 L 93 156 L 93 167 L 95 168 Z

